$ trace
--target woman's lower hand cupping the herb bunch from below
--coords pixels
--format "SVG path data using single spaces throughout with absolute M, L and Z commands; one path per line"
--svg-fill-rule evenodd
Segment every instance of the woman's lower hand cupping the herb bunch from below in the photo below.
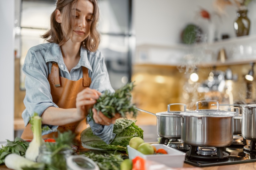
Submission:
M 92 109 L 93 112 L 93 120 L 95 121 L 95 123 L 97 124 L 101 124 L 101 125 L 110 125 L 110 124 L 114 124 L 116 122 L 116 119 L 120 118 L 121 115 L 119 113 L 115 114 L 115 117 L 113 118 L 108 118 L 105 115 L 103 115 L 102 112 L 97 112 L 97 110 L 95 108 Z

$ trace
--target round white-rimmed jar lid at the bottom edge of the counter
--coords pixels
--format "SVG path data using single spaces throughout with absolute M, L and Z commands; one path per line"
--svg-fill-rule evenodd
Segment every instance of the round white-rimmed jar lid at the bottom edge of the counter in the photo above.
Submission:
M 84 155 L 71 155 L 66 161 L 70 170 L 100 170 L 92 159 Z

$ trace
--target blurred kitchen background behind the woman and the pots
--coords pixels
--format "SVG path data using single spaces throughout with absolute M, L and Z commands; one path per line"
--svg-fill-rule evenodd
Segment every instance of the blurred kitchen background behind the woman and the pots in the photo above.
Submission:
M 135 81 L 138 108 L 157 113 L 170 103 L 189 110 L 200 100 L 255 103 L 256 0 L 245 7 L 236 0 L 98 2 L 100 50 L 111 84 L 118 89 Z M 45 43 L 39 35 L 54 9 L 54 0 L 0 0 L 0 143 L 24 129 L 21 67 L 28 49 Z M 156 116 L 140 112 L 136 124 L 146 141 L 156 140 Z

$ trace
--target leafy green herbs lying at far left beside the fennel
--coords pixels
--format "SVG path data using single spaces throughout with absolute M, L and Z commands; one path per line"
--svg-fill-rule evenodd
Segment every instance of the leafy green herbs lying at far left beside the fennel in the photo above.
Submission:
M 0 148 L 0 164 L 4 163 L 4 158 L 10 153 L 16 153 L 25 157 L 25 152 L 28 148 L 29 142 L 16 137 L 14 141 L 7 140 L 7 144 Z

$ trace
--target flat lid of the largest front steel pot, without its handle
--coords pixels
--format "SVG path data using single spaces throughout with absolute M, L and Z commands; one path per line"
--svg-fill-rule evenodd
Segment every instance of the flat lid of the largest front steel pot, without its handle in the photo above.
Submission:
M 235 114 L 234 111 L 225 110 L 194 110 L 180 113 L 182 116 L 191 117 L 233 117 Z

